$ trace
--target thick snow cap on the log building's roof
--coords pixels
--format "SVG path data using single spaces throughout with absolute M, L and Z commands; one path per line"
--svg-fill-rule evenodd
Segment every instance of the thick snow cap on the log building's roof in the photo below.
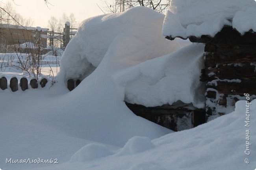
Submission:
M 163 23 L 163 35 L 170 39 L 189 36 L 213 37 L 224 25 L 239 33 L 256 32 L 254 0 L 171 0 Z

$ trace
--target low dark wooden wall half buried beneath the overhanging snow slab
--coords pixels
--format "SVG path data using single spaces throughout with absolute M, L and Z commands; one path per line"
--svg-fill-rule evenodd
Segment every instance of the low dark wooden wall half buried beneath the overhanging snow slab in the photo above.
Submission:
M 180 101 L 173 103 L 173 105 L 158 107 L 145 107 L 130 103 L 126 103 L 126 105 L 137 116 L 173 131 L 190 129 L 206 122 L 204 109 L 197 109 L 192 104 L 185 104 Z

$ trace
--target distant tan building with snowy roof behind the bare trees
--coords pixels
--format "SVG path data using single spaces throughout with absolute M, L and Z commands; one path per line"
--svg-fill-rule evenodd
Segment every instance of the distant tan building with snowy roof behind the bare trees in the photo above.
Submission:
M 0 24 L 0 43 L 6 45 L 35 43 L 41 38 L 43 47 L 47 46 L 47 28 L 22 27 L 20 25 Z

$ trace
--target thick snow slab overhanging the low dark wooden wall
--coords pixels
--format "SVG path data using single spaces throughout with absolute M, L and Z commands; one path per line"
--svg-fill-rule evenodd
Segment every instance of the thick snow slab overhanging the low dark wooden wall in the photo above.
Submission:
M 181 100 L 204 108 L 205 88 L 200 82 L 203 53 L 203 44 L 187 45 L 124 69 L 114 75 L 114 81 L 125 89 L 125 101 L 129 103 L 154 107 Z

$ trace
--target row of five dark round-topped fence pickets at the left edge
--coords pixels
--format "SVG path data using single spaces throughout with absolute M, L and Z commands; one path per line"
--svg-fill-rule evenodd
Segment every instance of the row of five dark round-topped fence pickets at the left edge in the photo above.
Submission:
M 48 82 L 48 80 L 46 78 L 42 78 L 39 81 L 39 84 L 41 85 L 41 87 L 45 87 L 47 82 Z M 13 92 L 15 92 L 19 89 L 19 85 L 20 85 L 20 89 L 22 91 L 27 90 L 28 89 L 28 79 L 23 77 L 23 78 L 20 79 L 20 83 L 19 83 L 18 79 L 16 77 L 11 78 L 10 83 L 9 83 L 9 87 L 11 88 L 11 90 Z M 32 89 L 37 89 L 38 88 L 38 81 L 36 79 L 30 80 L 30 87 Z M 5 90 L 7 88 L 8 88 L 8 83 L 7 83 L 6 77 L 1 77 L 0 78 L 0 89 Z

